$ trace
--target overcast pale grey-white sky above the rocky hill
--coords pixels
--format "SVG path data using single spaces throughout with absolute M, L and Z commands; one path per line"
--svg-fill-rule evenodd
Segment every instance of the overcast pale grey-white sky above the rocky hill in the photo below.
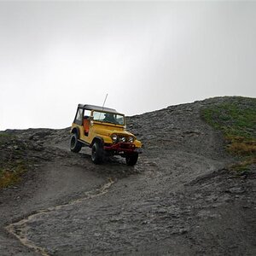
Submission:
M 0 2 L 0 130 L 256 96 L 254 2 Z

